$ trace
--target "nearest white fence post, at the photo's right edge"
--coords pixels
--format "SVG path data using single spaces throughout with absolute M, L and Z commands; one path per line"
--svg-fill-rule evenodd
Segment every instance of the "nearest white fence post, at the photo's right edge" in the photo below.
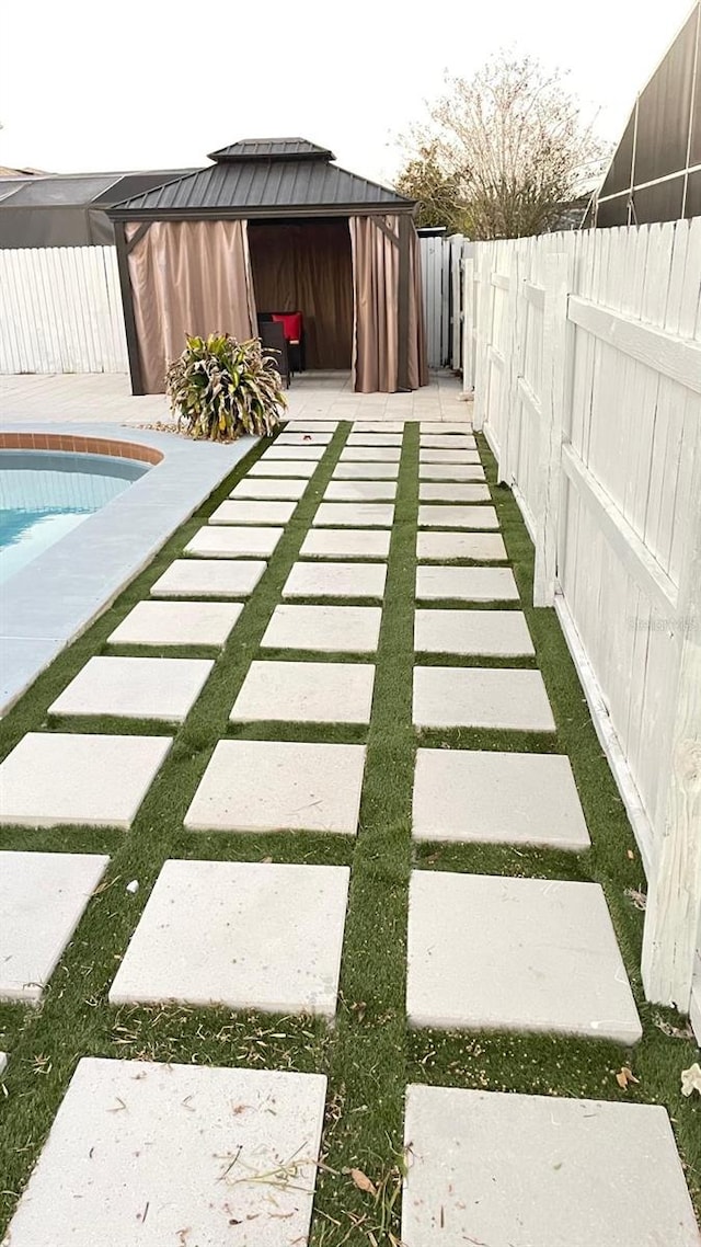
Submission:
M 681 658 L 674 688 L 669 783 L 642 940 L 649 1000 L 689 1013 L 701 930 L 701 425 L 697 424 L 684 570 L 675 627 Z

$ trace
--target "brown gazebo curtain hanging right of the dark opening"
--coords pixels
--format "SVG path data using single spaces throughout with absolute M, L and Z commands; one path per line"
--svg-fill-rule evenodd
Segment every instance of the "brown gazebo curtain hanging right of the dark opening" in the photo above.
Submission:
M 350 217 L 353 246 L 353 388 L 360 394 L 392 394 L 399 389 L 399 217 Z M 384 228 L 383 228 L 384 226 Z M 410 389 L 425 385 L 425 353 L 420 254 L 412 222 L 409 251 Z

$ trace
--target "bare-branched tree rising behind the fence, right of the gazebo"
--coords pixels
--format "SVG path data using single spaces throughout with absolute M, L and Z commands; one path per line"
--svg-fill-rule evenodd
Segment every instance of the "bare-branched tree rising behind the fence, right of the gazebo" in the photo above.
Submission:
M 454 206 L 471 238 L 551 228 L 605 155 L 563 75 L 506 54 L 471 79 L 448 79 L 428 122 L 404 146 L 414 161 L 430 152 L 445 185 L 455 187 Z

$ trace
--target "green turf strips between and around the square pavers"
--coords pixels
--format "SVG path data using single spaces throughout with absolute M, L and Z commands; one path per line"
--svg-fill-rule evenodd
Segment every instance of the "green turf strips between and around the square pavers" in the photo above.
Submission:
M 0 1005 L 0 1047 L 10 1052 L 7 1096 L 0 1099 L 0 1226 L 9 1220 L 65 1094 L 77 1060 L 86 1055 L 153 1059 L 200 1065 L 243 1065 L 326 1072 L 329 1079 L 312 1242 L 390 1245 L 399 1233 L 397 1198 L 402 1170 L 403 1101 L 409 1081 L 586 1095 L 660 1102 L 674 1121 L 697 1210 L 701 1210 L 701 1101 L 680 1095 L 680 1070 L 697 1059 L 691 1040 L 657 1025 L 680 1026 L 674 1014 L 649 1006 L 640 985 L 642 914 L 626 889 L 644 889 L 644 872 L 627 818 L 591 726 L 556 617 L 529 606 L 533 547 L 511 494 L 495 485 L 495 468 L 480 441 L 509 559 L 553 705 L 556 733 L 430 731 L 432 746 L 566 752 L 592 837 L 584 854 L 505 845 L 414 845 L 410 838 L 412 779 L 419 734 L 412 726 L 413 610 L 418 505 L 418 426 L 404 436 L 388 584 L 377 655 L 369 729 L 323 725 L 231 725 L 228 712 L 281 600 L 282 587 L 348 433 L 341 425 L 302 503 L 247 601 L 228 645 L 216 657 L 205 690 L 175 732 L 168 759 L 128 833 L 72 828 L 4 828 L 0 847 L 102 852 L 111 855 L 104 887 L 54 974 L 45 1003 L 27 1010 Z M 261 453 L 237 466 L 197 516 L 172 537 L 118 601 L 45 672 L 2 723 L 2 754 L 27 731 L 163 732 L 162 726 L 116 720 L 50 718 L 57 693 L 94 653 L 158 652 L 106 646 L 106 638 L 176 557 L 192 532 L 226 498 Z M 313 601 L 313 599 L 311 599 Z M 463 604 L 462 604 L 463 605 Z M 481 604 L 480 604 L 481 605 Z M 167 650 L 193 653 L 192 650 Z M 302 657 L 294 655 L 294 657 Z M 372 661 L 364 655 L 303 655 L 308 661 Z M 450 660 L 470 665 L 473 660 Z M 434 656 L 422 662 L 445 662 Z M 499 665 L 493 662 L 490 665 Z M 523 663 L 533 666 L 530 660 Z M 239 738 L 365 741 L 367 768 L 355 842 L 343 837 L 279 833 L 202 834 L 183 831 L 183 816 L 216 741 Z M 162 863 L 168 857 L 226 860 L 312 862 L 352 865 L 349 908 L 336 1025 L 308 1018 L 234 1015 L 222 1009 L 112 1009 L 106 996 Z M 594 879 L 602 884 L 644 1023 L 632 1051 L 568 1038 L 408 1031 L 405 1025 L 405 932 L 412 867 L 423 869 Z M 135 897 L 130 879 L 140 880 Z M 630 1065 L 640 1084 L 619 1089 L 615 1074 Z M 377 1200 L 348 1173 L 360 1168 L 379 1186 Z M 1 1231 L 0 1231 L 1 1232 Z M 394 1240 L 393 1237 L 394 1236 Z

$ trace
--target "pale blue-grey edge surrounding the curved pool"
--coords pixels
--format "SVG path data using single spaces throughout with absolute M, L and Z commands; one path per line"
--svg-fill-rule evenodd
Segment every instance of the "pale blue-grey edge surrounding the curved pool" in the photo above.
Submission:
M 130 425 L 79 428 L 80 433 L 75 424 L 7 421 L 0 430 L 0 449 L 115 456 L 116 448 L 117 458 L 148 461 L 151 468 L 4 585 L 0 718 L 148 566 L 259 440 L 244 436 L 215 445 Z M 137 453 L 125 454 L 127 446 Z

